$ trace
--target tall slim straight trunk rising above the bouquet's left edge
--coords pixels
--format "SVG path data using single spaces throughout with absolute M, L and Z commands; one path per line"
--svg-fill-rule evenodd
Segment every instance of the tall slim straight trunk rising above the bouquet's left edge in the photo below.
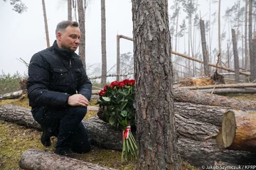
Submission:
M 107 52 L 106 52 L 106 15 L 105 0 L 101 0 L 101 23 L 102 23 L 102 79 L 101 84 L 104 87 L 107 83 Z

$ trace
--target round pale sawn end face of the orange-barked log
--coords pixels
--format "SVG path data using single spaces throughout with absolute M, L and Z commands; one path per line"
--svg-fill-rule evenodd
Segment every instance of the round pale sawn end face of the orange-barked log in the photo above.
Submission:
M 223 137 L 223 147 L 230 147 L 235 139 L 235 113 L 233 111 L 224 113 L 221 134 Z

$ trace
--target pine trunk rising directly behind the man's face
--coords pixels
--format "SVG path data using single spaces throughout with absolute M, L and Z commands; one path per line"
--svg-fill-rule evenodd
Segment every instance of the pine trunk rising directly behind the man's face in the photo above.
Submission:
M 82 64 L 86 69 L 85 62 L 85 9 L 82 0 L 78 0 L 78 22 L 80 28 L 80 45 L 79 45 L 79 56 L 81 57 Z

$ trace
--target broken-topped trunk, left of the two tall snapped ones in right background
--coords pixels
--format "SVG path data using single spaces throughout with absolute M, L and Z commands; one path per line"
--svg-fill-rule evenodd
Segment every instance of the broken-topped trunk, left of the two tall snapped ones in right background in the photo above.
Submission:
M 200 30 L 201 30 L 201 42 L 202 42 L 202 50 L 203 50 L 203 69 L 206 77 L 210 76 L 209 65 L 208 65 L 208 52 L 206 49 L 206 31 L 204 21 L 200 20 Z

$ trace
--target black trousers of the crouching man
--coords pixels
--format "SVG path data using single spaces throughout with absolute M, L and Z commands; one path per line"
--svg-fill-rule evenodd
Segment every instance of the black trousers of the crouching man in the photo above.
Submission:
M 33 111 L 33 118 L 44 128 L 57 131 L 55 148 L 58 151 L 72 149 L 73 152 L 89 152 L 91 143 L 82 119 L 85 107 L 52 108 L 44 106 Z M 55 133 L 56 134 L 56 133 Z

